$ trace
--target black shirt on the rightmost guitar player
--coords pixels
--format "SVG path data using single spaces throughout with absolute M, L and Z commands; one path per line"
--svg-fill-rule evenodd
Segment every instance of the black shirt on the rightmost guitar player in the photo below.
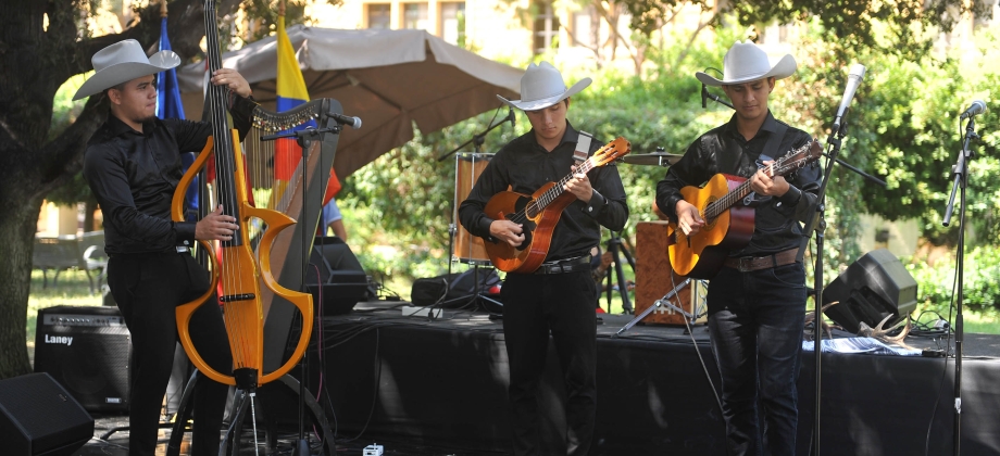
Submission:
M 757 173 L 758 162 L 777 160 L 812 140 L 805 131 L 787 127 L 777 151 L 773 152 L 777 156 L 761 157 L 767 140 L 779 129 L 778 124 L 768 111 L 761 129 L 747 141 L 737 129 L 734 114 L 728 123 L 699 137 L 657 185 L 657 205 L 677 223 L 675 206 L 683 199 L 682 187 L 701 186 L 717 173 L 749 178 Z M 730 252 L 730 256 L 761 256 L 799 246 L 803 230 L 800 221 L 815 213 L 820 165 L 813 162 L 785 179 L 791 187 L 780 198 L 754 194 L 753 236 L 746 248 Z

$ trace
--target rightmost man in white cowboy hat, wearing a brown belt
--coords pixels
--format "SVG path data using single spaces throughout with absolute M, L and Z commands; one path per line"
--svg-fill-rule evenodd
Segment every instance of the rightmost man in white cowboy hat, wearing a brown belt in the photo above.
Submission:
M 680 195 L 683 187 L 726 173 L 750 179 L 755 193 L 750 242 L 729 253 L 708 292 L 730 455 L 795 454 L 796 377 L 805 317 L 805 270 L 798 250 L 805 236 L 802 223 L 815 208 L 820 168 L 813 164 L 774 178 L 760 169 L 811 141 L 767 109 L 775 79 L 795 71 L 791 55 L 771 63 L 757 45 L 737 41 L 726 52 L 722 79 L 697 73 L 702 83 L 722 86 L 736 114 L 695 140 L 657 186 L 657 206 L 691 236 L 705 220 Z

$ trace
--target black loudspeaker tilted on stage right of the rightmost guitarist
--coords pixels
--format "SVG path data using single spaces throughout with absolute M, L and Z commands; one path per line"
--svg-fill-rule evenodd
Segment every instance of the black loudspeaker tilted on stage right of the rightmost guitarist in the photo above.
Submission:
M 892 316 L 888 327 L 916 307 L 916 280 L 896 255 L 878 249 L 858 258 L 823 289 L 823 303 L 834 301 L 839 304 L 824 314 L 850 332 L 858 333 L 862 321 L 874 328 Z

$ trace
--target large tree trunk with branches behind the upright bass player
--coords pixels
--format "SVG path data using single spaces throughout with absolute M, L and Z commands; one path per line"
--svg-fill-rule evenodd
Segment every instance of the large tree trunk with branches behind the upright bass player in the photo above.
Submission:
M 118 35 L 78 40 L 75 0 L 2 0 L 0 4 L 0 380 L 30 372 L 25 344 L 32 254 L 41 200 L 83 167 L 87 141 L 108 116 L 101 97 L 62 135 L 46 142 L 55 91 L 71 76 L 91 68 L 90 58 L 108 45 L 135 38 L 147 49 L 160 35 L 160 5 Z M 204 36 L 201 0 L 171 3 L 171 43 L 182 59 L 200 52 Z M 220 1 L 225 17 L 238 0 Z M 48 27 L 45 21 L 48 20 Z

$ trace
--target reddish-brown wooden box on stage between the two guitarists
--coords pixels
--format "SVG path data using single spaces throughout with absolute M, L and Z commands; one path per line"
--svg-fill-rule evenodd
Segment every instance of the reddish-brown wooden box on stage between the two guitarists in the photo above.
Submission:
M 678 276 L 671 267 L 667 248 L 666 221 L 640 221 L 636 225 L 636 314 L 641 314 L 657 300 L 670 293 L 674 287 L 684 282 L 687 277 Z M 704 312 L 702 302 L 705 288 L 701 281 L 692 279 L 688 284 L 680 287 L 676 295 L 670 299 L 674 305 L 679 305 L 684 312 L 691 313 L 691 308 Z M 650 313 L 642 321 L 647 324 L 684 325 L 685 317 L 679 312 L 667 305 Z M 698 318 L 695 322 L 704 322 L 705 317 Z

